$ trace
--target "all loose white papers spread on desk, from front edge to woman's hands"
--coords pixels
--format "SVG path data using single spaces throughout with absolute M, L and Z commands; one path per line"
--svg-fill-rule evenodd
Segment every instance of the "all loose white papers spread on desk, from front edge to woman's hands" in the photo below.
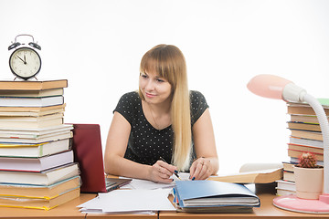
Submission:
M 183 181 L 189 180 L 189 173 L 180 172 Z M 123 177 L 121 177 L 123 178 Z M 168 195 L 175 187 L 173 183 L 154 183 L 152 181 L 133 179 L 120 190 L 99 193 L 99 196 L 87 203 L 82 203 L 80 211 L 85 214 L 155 214 L 157 211 L 175 211 Z

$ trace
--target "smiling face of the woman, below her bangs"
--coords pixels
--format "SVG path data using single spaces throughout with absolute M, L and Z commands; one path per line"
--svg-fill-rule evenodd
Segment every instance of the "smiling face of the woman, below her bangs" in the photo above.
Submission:
M 169 100 L 172 95 L 172 86 L 155 72 L 141 73 L 139 87 L 146 102 L 157 104 Z

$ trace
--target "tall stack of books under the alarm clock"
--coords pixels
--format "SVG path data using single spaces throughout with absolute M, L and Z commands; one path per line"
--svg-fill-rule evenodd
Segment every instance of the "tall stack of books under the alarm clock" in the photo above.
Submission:
M 0 81 L 0 206 L 52 209 L 80 196 L 64 124 L 68 81 Z

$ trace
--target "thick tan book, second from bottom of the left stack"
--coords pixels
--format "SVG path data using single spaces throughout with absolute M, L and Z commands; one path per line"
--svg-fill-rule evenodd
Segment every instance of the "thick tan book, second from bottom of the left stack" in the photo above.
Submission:
M 0 183 L 0 196 L 52 199 L 62 193 L 76 189 L 80 185 L 80 176 L 74 176 L 50 185 Z

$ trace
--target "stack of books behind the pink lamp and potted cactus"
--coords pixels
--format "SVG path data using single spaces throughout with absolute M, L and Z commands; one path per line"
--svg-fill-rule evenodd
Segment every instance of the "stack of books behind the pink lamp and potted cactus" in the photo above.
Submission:
M 329 99 L 318 99 L 329 115 Z M 295 193 L 293 165 L 298 163 L 302 152 L 313 152 L 318 165 L 324 165 L 324 142 L 319 121 L 313 108 L 307 103 L 287 103 L 288 129 L 291 136 L 288 143 L 288 156 L 290 161 L 283 162 L 283 181 L 278 181 L 277 193 L 279 195 Z

